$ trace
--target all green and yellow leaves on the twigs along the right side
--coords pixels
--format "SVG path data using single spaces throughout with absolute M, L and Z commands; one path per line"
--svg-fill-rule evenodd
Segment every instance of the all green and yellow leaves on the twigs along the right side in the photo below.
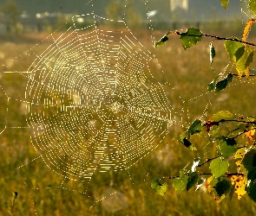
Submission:
M 229 0 L 221 0 L 221 5 L 227 10 Z M 248 8 L 256 15 L 256 1 L 250 0 Z M 222 38 L 219 36 L 203 34 L 200 29 L 189 28 L 186 32 L 170 31 L 164 35 L 160 41 L 155 42 L 155 47 L 162 46 L 168 41 L 168 35 L 174 33 L 180 35 L 181 45 L 187 48 L 193 47 L 200 42 L 203 37 L 212 37 L 215 40 L 224 40 L 224 47 L 230 62 L 237 73 L 220 73 L 213 81 L 207 85 L 209 92 L 218 93 L 226 88 L 235 77 L 242 78 L 254 76 L 251 65 L 253 62 L 255 44 L 247 42 L 246 38 L 256 19 L 250 19 L 246 23 L 242 40 L 236 37 Z M 216 50 L 210 42 L 210 66 L 213 69 L 213 59 Z M 214 69 L 213 69 L 214 70 Z M 226 130 L 223 130 L 226 128 Z M 194 159 L 191 168 L 183 168 L 179 175 L 171 177 L 161 177 L 152 182 L 157 194 L 164 195 L 167 191 L 167 183 L 161 183 L 164 179 L 172 179 L 173 186 L 177 193 L 181 193 L 185 188 L 188 191 L 192 187 L 199 190 L 203 185 L 207 187 L 208 193 L 213 195 L 213 199 L 220 203 L 226 196 L 230 200 L 233 194 L 240 198 L 244 194 L 256 202 L 256 117 L 243 117 L 233 114 L 231 111 L 218 111 L 206 122 L 200 119 L 181 133 L 178 141 L 187 149 L 197 150 L 196 143 L 191 141 L 195 135 L 204 136 L 208 134 L 213 143 L 217 146 L 217 156 L 208 158 L 206 162 L 200 163 L 201 158 Z M 231 166 L 233 164 L 234 166 Z M 210 172 L 199 171 L 198 168 L 207 167 Z

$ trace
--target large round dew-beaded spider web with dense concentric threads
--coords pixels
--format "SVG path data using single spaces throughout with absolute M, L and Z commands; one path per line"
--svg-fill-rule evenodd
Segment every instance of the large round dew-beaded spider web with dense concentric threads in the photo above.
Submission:
M 145 73 L 153 54 L 129 31 L 95 23 L 51 37 L 54 42 L 29 68 L 26 87 L 36 150 L 49 168 L 73 180 L 128 169 L 172 123 L 161 85 Z

